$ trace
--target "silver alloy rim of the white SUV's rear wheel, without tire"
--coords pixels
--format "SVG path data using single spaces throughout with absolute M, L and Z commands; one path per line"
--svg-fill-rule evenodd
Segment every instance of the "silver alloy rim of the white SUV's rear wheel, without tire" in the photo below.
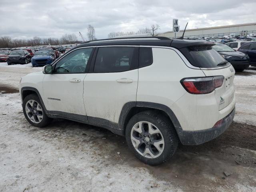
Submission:
M 164 138 L 152 123 L 140 121 L 131 130 L 131 141 L 135 150 L 146 158 L 157 158 L 164 151 Z

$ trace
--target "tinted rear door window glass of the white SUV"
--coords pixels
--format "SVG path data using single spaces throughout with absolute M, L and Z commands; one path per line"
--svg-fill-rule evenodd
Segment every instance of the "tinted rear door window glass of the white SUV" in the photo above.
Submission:
M 138 67 L 136 52 L 135 47 L 100 47 L 94 72 L 121 72 L 134 69 Z

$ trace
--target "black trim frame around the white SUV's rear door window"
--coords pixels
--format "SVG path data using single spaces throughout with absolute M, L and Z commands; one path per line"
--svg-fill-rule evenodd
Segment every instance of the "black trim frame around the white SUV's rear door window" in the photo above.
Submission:
M 96 61 L 96 56 L 98 54 L 98 50 L 100 47 L 134 47 L 135 48 L 135 61 L 137 62 L 135 64 L 134 68 L 130 68 L 128 70 L 122 70 L 122 71 L 110 71 L 110 72 L 95 72 L 94 71 L 94 66 L 95 66 L 95 61 Z M 90 65 L 90 69 L 88 71 L 88 73 L 120 73 L 120 72 L 126 72 L 126 71 L 131 71 L 131 70 L 135 70 L 138 69 L 139 66 L 139 47 L 138 45 L 102 45 L 102 46 L 96 46 L 96 49 L 94 51 L 94 55 L 92 57 L 92 61 L 91 61 L 91 65 Z

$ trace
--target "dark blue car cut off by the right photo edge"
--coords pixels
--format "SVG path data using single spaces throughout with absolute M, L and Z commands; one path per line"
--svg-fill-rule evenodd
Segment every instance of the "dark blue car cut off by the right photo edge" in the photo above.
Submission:
M 250 65 L 256 66 L 256 42 L 246 42 L 238 49 L 238 51 L 248 54 L 250 57 Z

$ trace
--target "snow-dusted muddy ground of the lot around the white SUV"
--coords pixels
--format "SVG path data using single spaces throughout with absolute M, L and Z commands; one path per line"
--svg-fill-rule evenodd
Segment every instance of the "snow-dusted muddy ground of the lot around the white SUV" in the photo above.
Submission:
M 256 67 L 235 76 L 236 116 L 224 134 L 149 166 L 108 130 L 61 119 L 31 126 L 17 90 L 42 68 L 29 65 L 0 63 L 0 191 L 256 191 Z

